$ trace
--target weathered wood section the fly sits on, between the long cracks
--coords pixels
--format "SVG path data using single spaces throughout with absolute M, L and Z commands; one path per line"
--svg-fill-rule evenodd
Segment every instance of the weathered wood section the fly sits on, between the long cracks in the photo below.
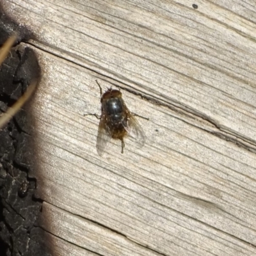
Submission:
M 148 114 L 140 120 L 147 144 L 140 150 L 127 143 L 122 155 L 120 143 L 111 143 L 100 158 L 99 121 L 83 116 L 99 109 L 98 75 L 38 54 L 49 70 L 34 109 L 46 202 L 166 255 L 255 252 L 244 243 L 256 237 L 255 154 L 123 92 L 132 111 L 140 106 Z

